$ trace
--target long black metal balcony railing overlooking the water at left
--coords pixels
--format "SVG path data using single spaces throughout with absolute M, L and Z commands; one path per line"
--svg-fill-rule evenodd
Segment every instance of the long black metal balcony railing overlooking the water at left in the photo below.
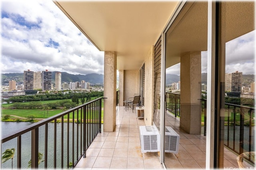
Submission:
M 92 140 L 101 132 L 102 99 L 104 98 L 95 99 L 2 136 L 1 153 L 6 148 L 16 149 L 14 165 L 17 166 L 14 168 L 27 168 L 26 159 L 30 159 L 30 156 L 31 168 L 38 168 L 38 153 L 44 155 L 44 166 L 41 163 L 39 168 L 76 166 L 78 160 L 86 156 L 86 149 Z M 24 140 L 31 143 L 22 142 Z M 11 144 L 13 141 L 15 146 Z M 1 168 L 6 167 L 2 164 Z

